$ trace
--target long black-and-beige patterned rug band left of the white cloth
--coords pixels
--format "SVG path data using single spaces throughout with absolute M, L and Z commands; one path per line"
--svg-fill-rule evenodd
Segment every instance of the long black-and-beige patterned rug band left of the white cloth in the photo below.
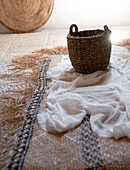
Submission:
M 49 56 L 46 56 L 43 59 L 43 63 L 38 75 L 38 88 L 36 89 L 32 97 L 32 101 L 28 107 L 23 127 L 17 140 L 18 143 L 14 149 L 14 154 L 8 166 L 8 169 L 22 169 L 23 167 L 30 140 L 33 136 L 33 129 L 39 111 L 40 103 L 47 88 L 46 74 L 50 61 L 51 60 Z

